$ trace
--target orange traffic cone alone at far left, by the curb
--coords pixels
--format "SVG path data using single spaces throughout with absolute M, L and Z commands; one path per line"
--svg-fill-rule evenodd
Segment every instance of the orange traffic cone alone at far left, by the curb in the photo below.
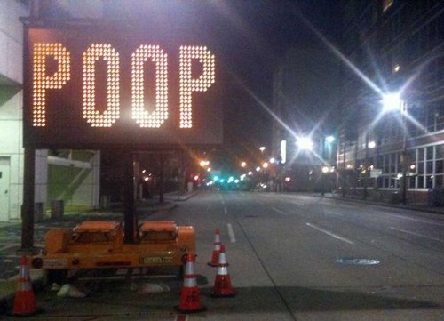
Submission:
M 31 278 L 29 277 L 28 259 L 23 255 L 20 261 L 19 283 L 15 293 L 12 315 L 26 317 L 36 312 L 36 296 L 34 295 Z

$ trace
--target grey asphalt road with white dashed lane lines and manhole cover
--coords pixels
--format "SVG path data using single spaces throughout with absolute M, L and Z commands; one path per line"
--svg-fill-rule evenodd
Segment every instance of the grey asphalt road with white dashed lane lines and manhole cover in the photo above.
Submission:
M 38 300 L 39 319 L 443 320 L 444 216 L 308 195 L 202 192 L 150 220 L 196 229 L 206 312 L 178 315 L 181 281 L 154 271 L 80 279 L 83 299 Z M 237 295 L 213 299 L 214 230 Z M 167 271 L 163 271 L 168 274 Z M 170 293 L 144 293 L 162 282 Z M 74 317 L 77 316 L 77 317 Z M 10 317 L 11 318 L 11 317 Z M 11 318 L 12 319 L 12 318 Z

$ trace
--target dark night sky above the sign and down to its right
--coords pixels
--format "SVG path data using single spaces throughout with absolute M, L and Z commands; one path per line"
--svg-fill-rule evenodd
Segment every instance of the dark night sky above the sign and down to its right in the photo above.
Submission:
M 104 3 L 107 18 L 117 23 L 131 21 L 143 28 L 191 35 L 190 38 L 197 36 L 215 48 L 224 73 L 223 149 L 232 155 L 270 146 L 272 117 L 261 105 L 273 108 L 274 71 L 285 53 L 316 38 L 303 19 L 333 43 L 340 36 L 340 0 L 107 0 Z M 63 18 L 63 12 L 47 13 Z M 326 54 L 330 53 L 326 50 Z M 308 115 L 310 110 L 302 112 Z

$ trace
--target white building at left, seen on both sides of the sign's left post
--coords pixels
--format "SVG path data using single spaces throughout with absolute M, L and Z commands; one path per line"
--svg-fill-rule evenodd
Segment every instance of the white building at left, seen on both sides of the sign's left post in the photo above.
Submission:
M 0 0 L 0 221 L 20 221 L 23 199 L 23 24 L 29 2 Z M 36 150 L 36 219 L 52 202 L 65 209 L 99 206 L 100 154 Z

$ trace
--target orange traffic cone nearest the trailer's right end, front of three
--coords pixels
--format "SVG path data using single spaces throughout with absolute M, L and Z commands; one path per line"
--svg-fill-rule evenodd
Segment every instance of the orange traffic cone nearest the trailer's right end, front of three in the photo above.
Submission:
M 194 274 L 194 254 L 186 255 L 184 286 L 180 292 L 180 305 L 175 307 L 182 313 L 195 313 L 206 310 L 199 298 L 199 288 Z

